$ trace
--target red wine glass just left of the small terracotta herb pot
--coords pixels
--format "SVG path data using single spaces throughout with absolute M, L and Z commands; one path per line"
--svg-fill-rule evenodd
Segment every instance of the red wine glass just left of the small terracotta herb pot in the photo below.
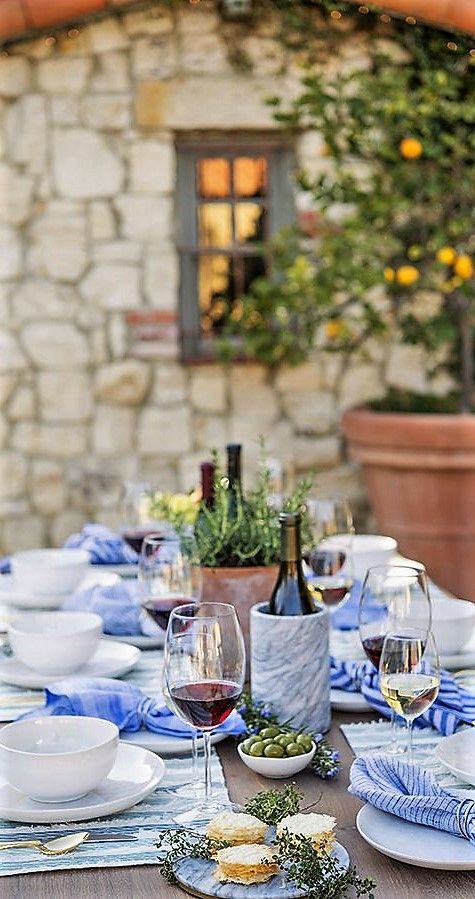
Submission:
M 145 537 L 138 569 L 142 606 L 162 630 L 172 609 L 201 599 L 202 573 L 191 533 Z

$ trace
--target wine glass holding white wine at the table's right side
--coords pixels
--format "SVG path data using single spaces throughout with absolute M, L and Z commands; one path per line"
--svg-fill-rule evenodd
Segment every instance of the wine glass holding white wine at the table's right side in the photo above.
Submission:
M 400 628 L 386 634 L 379 663 L 381 693 L 407 724 L 407 758 L 414 761 L 412 725 L 435 702 L 440 663 L 432 631 Z

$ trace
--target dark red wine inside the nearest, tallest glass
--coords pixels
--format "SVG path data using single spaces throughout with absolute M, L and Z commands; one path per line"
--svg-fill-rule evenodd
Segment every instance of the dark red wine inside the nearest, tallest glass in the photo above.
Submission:
M 232 712 L 241 695 L 232 681 L 198 681 L 170 689 L 170 696 L 183 717 L 200 729 L 218 727 Z

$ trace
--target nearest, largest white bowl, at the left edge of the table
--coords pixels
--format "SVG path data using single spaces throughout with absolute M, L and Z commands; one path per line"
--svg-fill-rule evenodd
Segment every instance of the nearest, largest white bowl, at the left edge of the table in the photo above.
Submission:
M 0 731 L 0 766 L 31 799 L 71 802 L 107 777 L 118 745 L 118 727 L 102 718 L 29 718 Z

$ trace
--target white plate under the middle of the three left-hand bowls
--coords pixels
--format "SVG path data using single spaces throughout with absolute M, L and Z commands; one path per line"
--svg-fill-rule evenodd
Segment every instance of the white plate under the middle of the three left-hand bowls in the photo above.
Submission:
M 13 687 L 32 687 L 42 690 L 57 680 L 74 677 L 122 677 L 135 667 L 140 658 L 140 649 L 124 643 L 101 640 L 99 648 L 86 665 L 72 674 L 40 674 L 19 662 L 14 656 L 0 656 L 0 681 Z

